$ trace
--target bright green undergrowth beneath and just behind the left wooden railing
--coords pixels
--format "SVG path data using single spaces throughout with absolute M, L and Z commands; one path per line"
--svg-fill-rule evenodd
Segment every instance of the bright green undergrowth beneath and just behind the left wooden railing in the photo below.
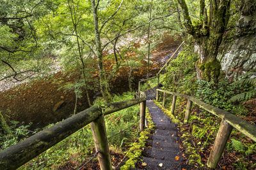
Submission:
M 113 102 L 125 101 L 133 99 L 133 93 L 127 92 L 122 96 L 114 96 Z M 103 99 L 97 99 L 95 105 L 104 103 Z M 132 106 L 125 110 L 116 111 L 115 113 L 105 117 L 107 134 L 113 136 L 117 132 L 134 124 L 131 129 L 124 131 L 113 138 L 109 139 L 109 148 L 113 152 L 124 153 L 130 143 L 133 143 L 138 135 L 138 116 L 139 106 Z M 51 127 L 48 125 L 44 129 Z M 64 167 L 78 168 L 83 165 L 93 153 L 95 153 L 92 131 L 90 125 L 86 125 L 79 131 L 68 136 L 68 138 L 60 141 L 45 152 L 41 153 L 35 159 L 19 169 L 61 169 Z M 97 159 L 96 159 L 97 161 Z

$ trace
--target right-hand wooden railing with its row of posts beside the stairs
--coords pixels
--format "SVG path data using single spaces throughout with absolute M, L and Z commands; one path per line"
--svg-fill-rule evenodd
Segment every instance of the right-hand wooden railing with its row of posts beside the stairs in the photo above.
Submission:
M 184 94 L 179 94 L 175 92 L 169 92 L 167 90 L 157 89 L 157 97 L 156 97 L 157 100 L 159 99 L 159 92 L 164 93 L 163 105 L 166 98 L 166 94 L 173 95 L 172 114 L 174 113 L 174 110 L 175 110 L 175 102 L 176 102 L 177 96 L 188 99 L 184 123 L 186 123 L 189 120 L 192 102 L 197 104 L 201 108 L 204 108 L 204 110 L 209 111 L 213 115 L 216 115 L 217 117 L 221 118 L 220 129 L 218 131 L 218 134 L 214 141 L 214 145 L 212 147 L 212 151 L 207 161 L 208 167 L 216 168 L 233 127 L 236 128 L 239 132 L 243 133 L 248 138 L 256 142 L 256 126 L 246 122 L 242 118 L 239 118 L 228 111 L 221 110 L 220 108 L 216 108 L 214 106 L 211 106 L 210 104 L 204 103 L 196 99 L 195 97 L 186 96 Z

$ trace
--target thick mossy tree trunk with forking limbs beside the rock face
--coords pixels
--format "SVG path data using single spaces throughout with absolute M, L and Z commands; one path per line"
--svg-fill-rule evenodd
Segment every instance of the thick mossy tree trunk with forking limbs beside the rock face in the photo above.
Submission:
M 188 34 L 200 46 L 200 59 L 196 62 L 197 76 L 217 82 L 221 66 L 216 57 L 229 19 L 230 0 L 211 0 L 209 14 L 205 1 L 200 0 L 200 20 L 196 23 L 191 21 L 186 1 L 177 1 L 184 11 L 184 25 Z

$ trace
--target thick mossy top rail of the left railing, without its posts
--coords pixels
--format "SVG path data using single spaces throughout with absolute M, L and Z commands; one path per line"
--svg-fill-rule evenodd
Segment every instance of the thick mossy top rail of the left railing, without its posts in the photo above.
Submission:
M 135 104 L 145 103 L 146 98 L 140 97 L 128 101 L 102 104 L 93 106 L 76 115 L 63 120 L 62 122 L 38 132 L 35 135 L 10 146 L 0 152 L 0 169 L 17 169 L 40 153 L 51 148 L 51 146 L 67 138 L 91 122 L 96 122 L 100 117 L 134 106 Z M 145 114 L 145 113 L 141 113 Z M 145 120 L 143 120 L 145 121 Z M 104 122 L 104 121 L 103 121 Z M 99 122 L 98 122 L 99 123 Z M 94 137 L 94 136 L 93 136 Z

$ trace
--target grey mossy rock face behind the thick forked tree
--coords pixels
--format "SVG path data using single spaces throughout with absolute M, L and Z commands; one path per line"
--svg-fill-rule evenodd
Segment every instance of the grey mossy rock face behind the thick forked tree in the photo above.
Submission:
M 221 70 L 230 80 L 256 69 L 256 3 L 244 0 L 237 9 L 231 13 L 218 53 Z

